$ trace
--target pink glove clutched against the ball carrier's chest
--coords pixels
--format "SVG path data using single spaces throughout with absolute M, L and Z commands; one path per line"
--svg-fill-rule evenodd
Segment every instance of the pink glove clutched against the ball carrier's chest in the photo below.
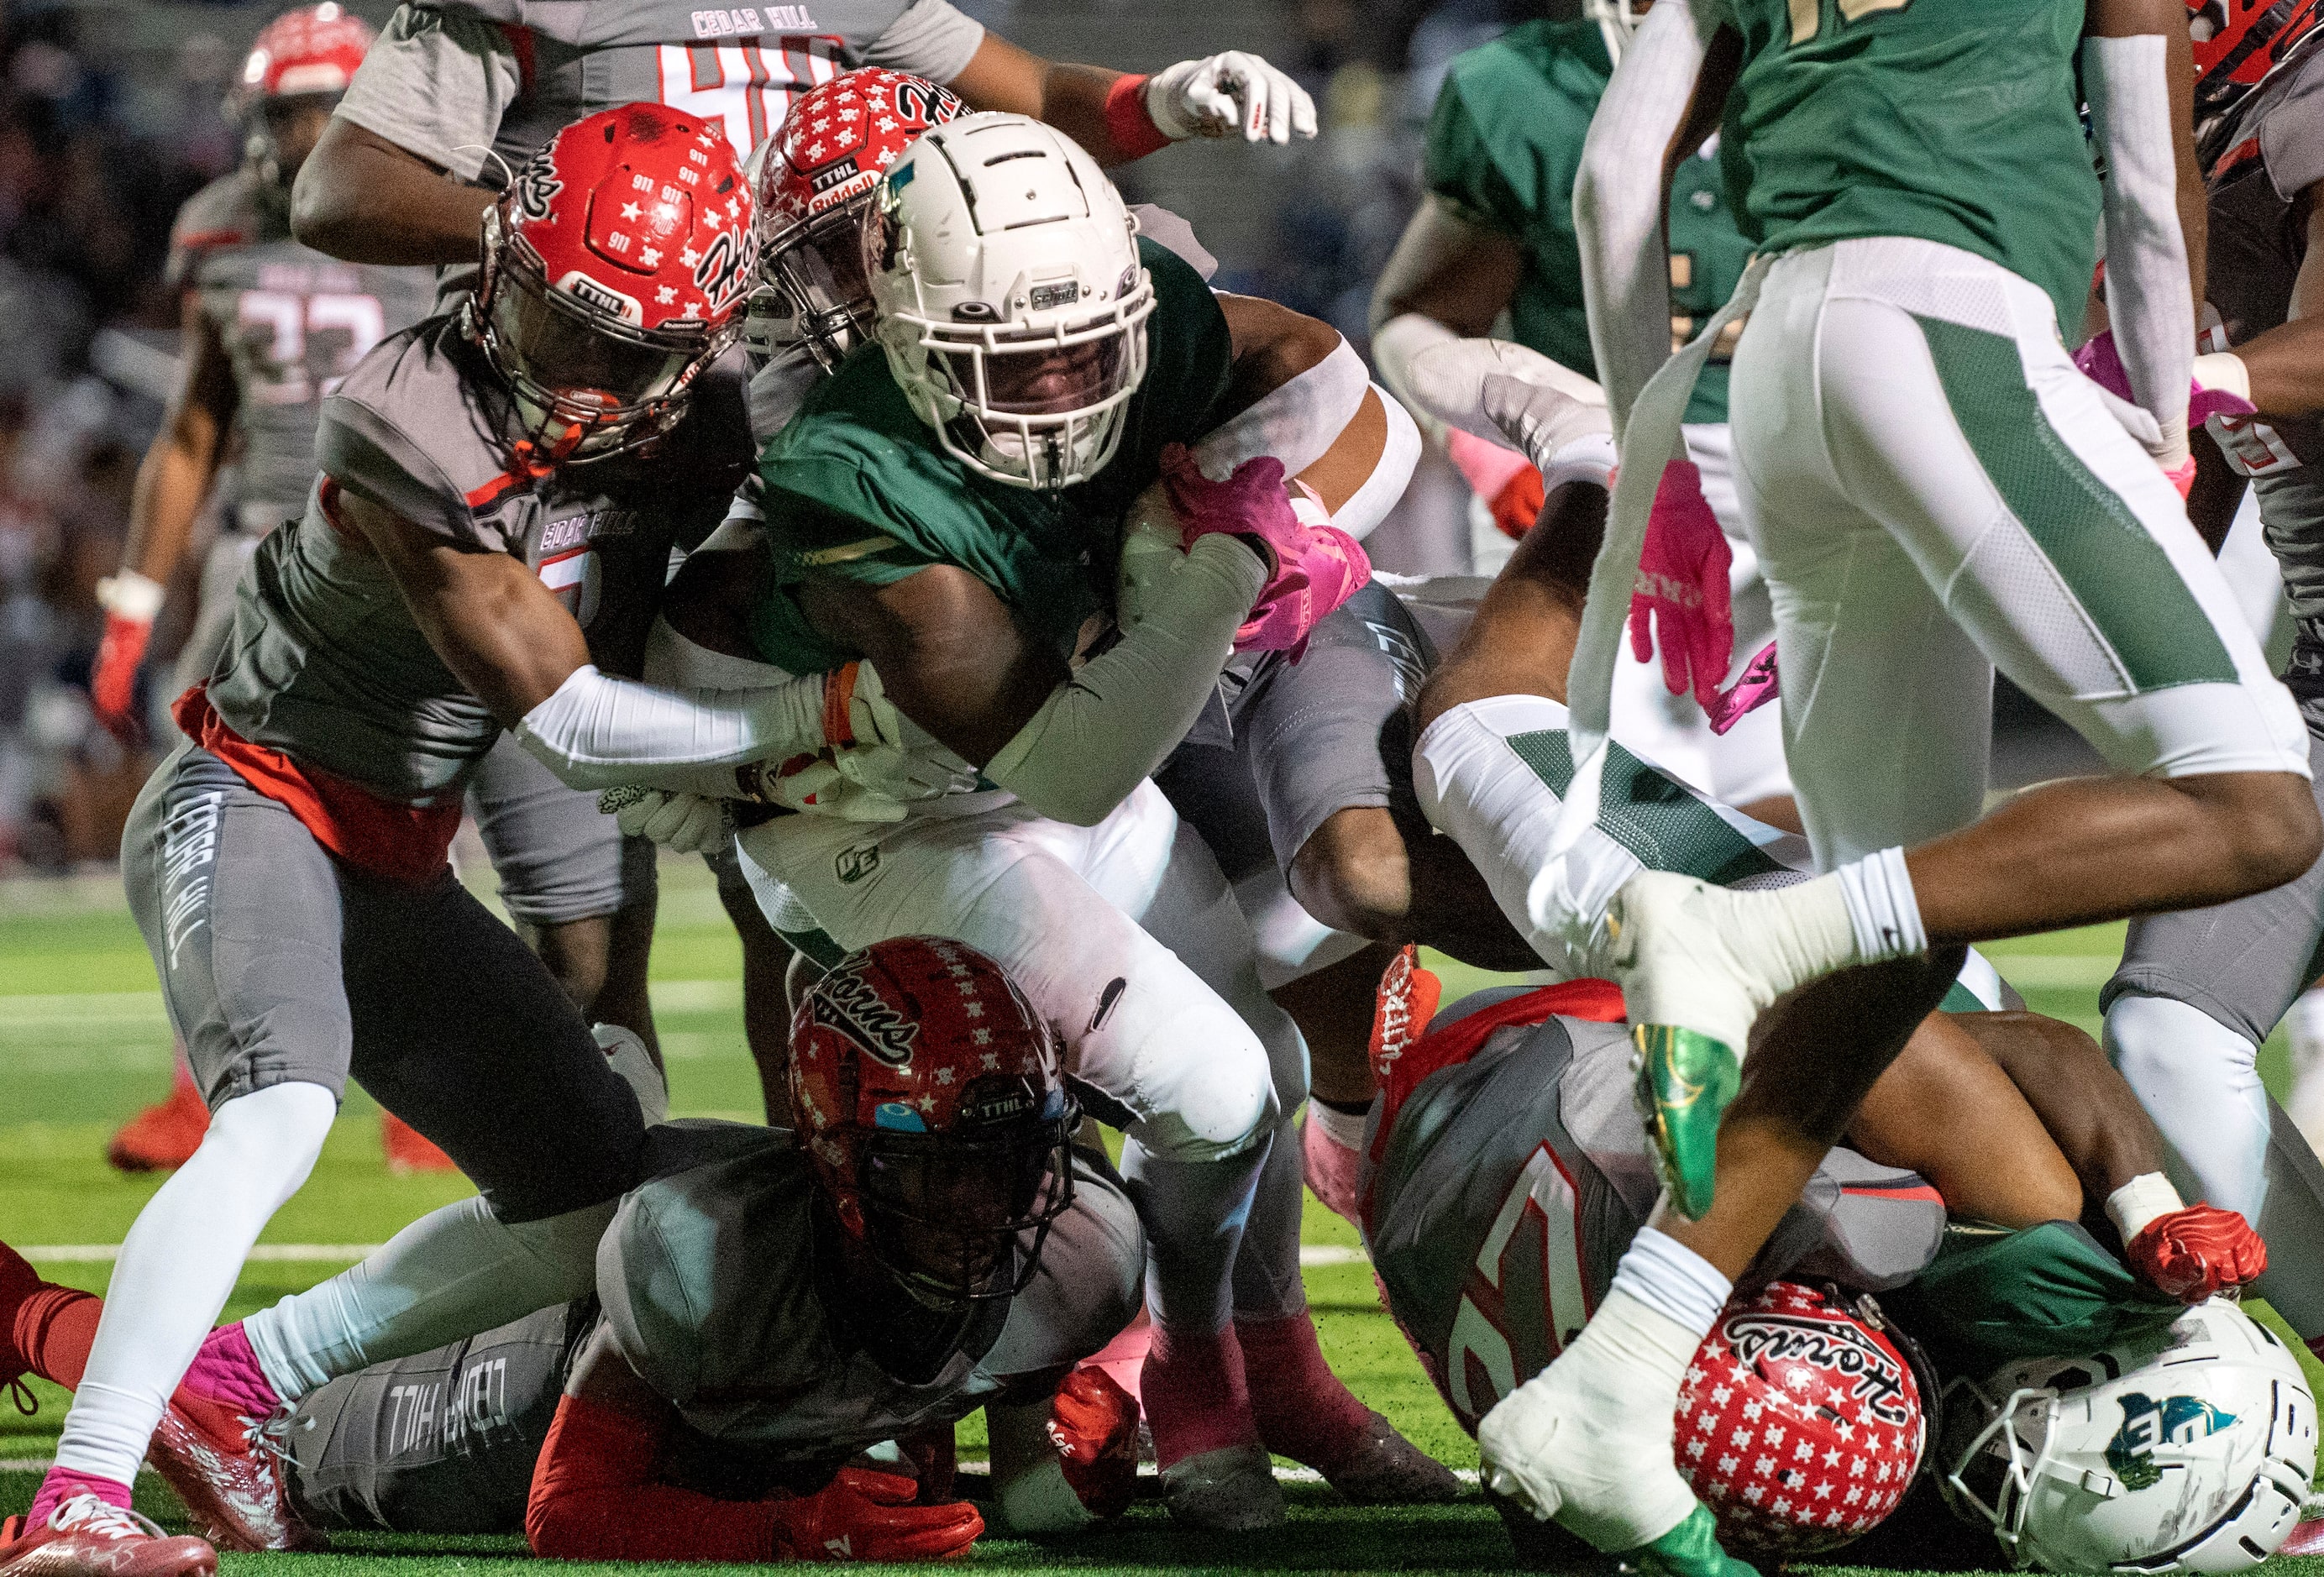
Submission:
M 1234 632 L 1239 653 L 1290 653 L 1299 662 L 1315 622 L 1371 578 L 1364 548 L 1325 520 L 1313 495 L 1304 511 L 1313 520 L 1301 518 L 1283 490 L 1283 462 L 1271 455 L 1246 460 L 1227 481 L 1211 481 L 1183 444 L 1171 444 L 1162 451 L 1162 483 L 1185 530 L 1181 546 L 1229 532 L 1257 537 L 1276 555 L 1274 574 L 1250 604 L 1250 620 Z

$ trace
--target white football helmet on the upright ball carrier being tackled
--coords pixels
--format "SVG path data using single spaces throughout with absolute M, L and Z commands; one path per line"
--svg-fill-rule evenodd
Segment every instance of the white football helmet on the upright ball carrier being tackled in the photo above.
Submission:
M 1097 160 L 1018 114 L 927 130 L 865 225 L 876 334 L 946 453 L 992 481 L 1088 481 L 1146 376 L 1153 281 Z

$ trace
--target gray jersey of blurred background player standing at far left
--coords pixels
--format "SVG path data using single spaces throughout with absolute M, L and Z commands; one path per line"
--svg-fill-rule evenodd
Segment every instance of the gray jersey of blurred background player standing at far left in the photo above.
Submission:
M 177 211 L 165 279 L 193 290 L 235 369 L 239 506 L 225 518 L 272 530 L 307 504 L 323 395 L 428 314 L 435 279 L 300 246 L 286 195 L 251 170 L 218 177 Z

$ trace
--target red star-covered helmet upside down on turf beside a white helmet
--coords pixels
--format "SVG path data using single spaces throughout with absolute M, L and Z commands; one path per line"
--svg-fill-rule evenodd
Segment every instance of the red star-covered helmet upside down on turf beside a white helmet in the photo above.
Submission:
M 1729 1303 L 1678 1394 L 1678 1472 L 1720 1542 L 1806 1556 L 1871 1533 L 1922 1454 L 1920 1382 L 1882 1328 L 1799 1282 Z

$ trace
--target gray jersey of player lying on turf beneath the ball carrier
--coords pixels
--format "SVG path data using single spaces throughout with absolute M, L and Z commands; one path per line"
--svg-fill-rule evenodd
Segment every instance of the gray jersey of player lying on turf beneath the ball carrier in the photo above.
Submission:
M 932 1380 L 899 1382 L 816 1291 L 813 1182 L 790 1133 L 679 1122 L 648 1143 L 667 1171 L 634 1189 L 607 1229 L 597 1298 L 630 1368 L 697 1440 L 755 1463 L 758 1477 L 960 1419 L 1018 1380 L 1055 1384 L 1136 1315 L 1146 1261 L 1136 1212 L 1113 1178 L 1076 1157 L 1074 1205 L 1025 1291 L 978 1305 Z M 686 1477 L 709 1470 L 690 1461 Z

